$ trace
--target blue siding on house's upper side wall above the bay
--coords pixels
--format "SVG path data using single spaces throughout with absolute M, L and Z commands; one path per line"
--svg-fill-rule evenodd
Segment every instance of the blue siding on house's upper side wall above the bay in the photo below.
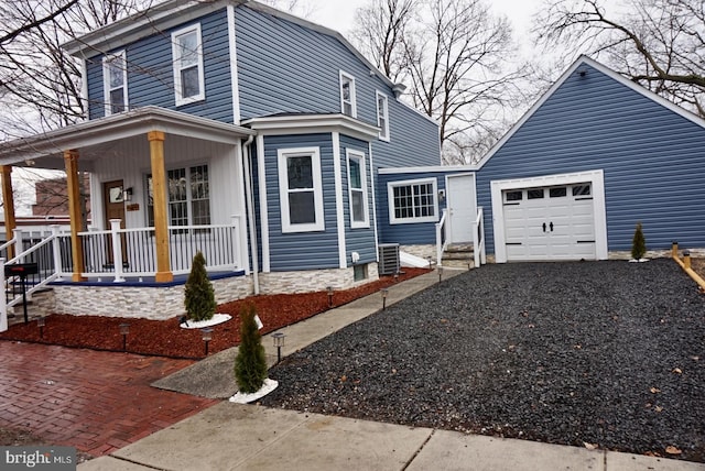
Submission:
M 336 37 L 245 6 L 236 9 L 236 31 L 242 120 L 339 113 L 344 70 L 355 78 L 358 120 L 377 125 L 377 91 L 388 96 L 391 141 L 373 142 L 376 167 L 440 165 L 437 124 L 397 101 Z

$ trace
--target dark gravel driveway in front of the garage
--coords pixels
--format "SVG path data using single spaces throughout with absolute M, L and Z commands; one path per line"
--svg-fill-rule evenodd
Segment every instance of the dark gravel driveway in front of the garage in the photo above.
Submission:
M 671 260 L 486 265 L 270 377 L 267 406 L 705 462 L 705 296 Z

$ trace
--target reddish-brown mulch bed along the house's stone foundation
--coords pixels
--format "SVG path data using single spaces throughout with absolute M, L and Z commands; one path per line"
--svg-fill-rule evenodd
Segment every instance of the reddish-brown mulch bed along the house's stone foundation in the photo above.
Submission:
M 398 281 L 392 276 L 382 276 L 379 281 L 352 289 L 336 291 L 333 296 L 333 307 L 350 303 L 359 297 L 376 293 L 382 287 L 426 272 L 427 270 L 425 269 L 405 267 L 404 273 L 400 274 Z M 326 292 L 260 295 L 220 305 L 217 308 L 217 313 L 229 314 L 232 319 L 214 327 L 213 340 L 208 344 L 209 353 L 215 353 L 239 343 L 240 322 L 238 314 L 247 303 L 254 305 L 258 316 L 264 325 L 260 330 L 262 335 L 330 309 Z M 167 320 L 149 320 L 53 314 L 46 317 L 46 325 L 42 332 L 35 321 L 30 321 L 26 325 L 17 324 L 10 327 L 8 331 L 0 333 L 0 340 L 122 351 L 123 338 L 120 335 L 120 325 L 127 322 L 130 325 L 129 333 L 126 338 L 128 352 L 170 358 L 203 358 L 205 346 L 200 330 L 182 329 L 178 321 L 178 316 Z

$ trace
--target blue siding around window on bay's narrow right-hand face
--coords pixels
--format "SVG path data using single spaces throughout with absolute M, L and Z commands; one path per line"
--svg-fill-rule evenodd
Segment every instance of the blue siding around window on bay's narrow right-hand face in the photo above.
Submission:
M 361 152 L 365 154 L 365 173 L 367 182 L 367 210 L 370 221 L 369 228 L 350 227 L 350 196 L 348 194 L 348 167 L 347 150 Z M 350 253 L 358 252 L 360 260 L 358 263 L 370 263 L 377 261 L 377 245 L 375 243 L 375 208 L 372 207 L 372 184 L 370 179 L 370 161 L 368 143 L 346 135 L 340 136 L 340 168 L 343 171 L 343 208 L 345 211 L 345 247 L 348 266 L 351 266 Z

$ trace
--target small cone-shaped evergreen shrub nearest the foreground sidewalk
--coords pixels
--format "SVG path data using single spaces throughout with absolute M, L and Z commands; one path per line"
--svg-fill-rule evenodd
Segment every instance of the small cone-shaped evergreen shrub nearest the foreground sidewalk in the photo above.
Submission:
M 267 357 L 262 337 L 257 328 L 254 305 L 240 309 L 240 346 L 235 359 L 235 379 L 242 393 L 256 393 L 267 379 Z

